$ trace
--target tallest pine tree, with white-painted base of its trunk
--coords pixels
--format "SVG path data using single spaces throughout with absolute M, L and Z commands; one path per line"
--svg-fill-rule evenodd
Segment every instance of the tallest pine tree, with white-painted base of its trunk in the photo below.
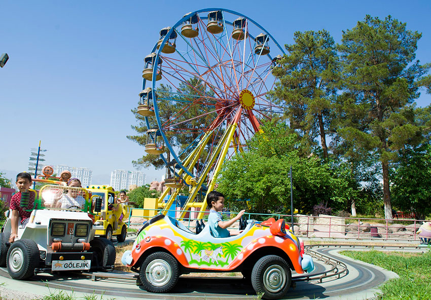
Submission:
M 417 143 L 410 104 L 418 97 L 418 83 L 429 69 L 415 59 L 421 34 L 406 23 L 372 18 L 343 32 L 339 45 L 343 63 L 341 139 L 378 155 L 382 166 L 385 218 L 392 218 L 389 167 L 397 150 Z

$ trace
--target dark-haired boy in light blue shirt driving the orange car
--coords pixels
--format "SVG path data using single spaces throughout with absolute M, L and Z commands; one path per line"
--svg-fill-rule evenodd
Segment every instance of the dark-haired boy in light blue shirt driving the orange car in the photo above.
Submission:
M 212 191 L 206 196 L 206 204 L 209 207 L 209 231 L 213 237 L 227 238 L 229 236 L 238 235 L 242 232 L 242 230 L 229 232 L 228 227 L 241 218 L 245 209 L 241 210 L 234 218 L 223 221 L 222 214 L 220 212 L 225 206 L 225 196 L 220 192 Z

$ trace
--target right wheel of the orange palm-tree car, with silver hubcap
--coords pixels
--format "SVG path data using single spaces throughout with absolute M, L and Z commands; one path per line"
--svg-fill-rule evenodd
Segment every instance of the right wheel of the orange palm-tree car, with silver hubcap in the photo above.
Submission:
M 263 299 L 280 299 L 289 290 L 292 272 L 289 264 L 277 255 L 260 258 L 252 271 L 252 285 L 256 293 L 263 293 Z

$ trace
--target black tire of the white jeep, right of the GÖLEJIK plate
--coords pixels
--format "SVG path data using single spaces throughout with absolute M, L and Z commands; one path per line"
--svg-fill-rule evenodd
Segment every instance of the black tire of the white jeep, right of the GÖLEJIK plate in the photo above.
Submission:
M 95 238 L 90 241 L 90 252 L 93 252 L 91 268 L 109 269 L 115 264 L 115 247 L 110 240 L 105 238 Z

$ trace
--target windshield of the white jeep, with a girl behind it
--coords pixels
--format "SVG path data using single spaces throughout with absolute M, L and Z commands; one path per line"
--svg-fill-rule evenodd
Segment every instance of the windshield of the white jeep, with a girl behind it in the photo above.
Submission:
M 40 191 L 40 208 L 83 210 L 88 192 L 82 187 L 45 185 Z

